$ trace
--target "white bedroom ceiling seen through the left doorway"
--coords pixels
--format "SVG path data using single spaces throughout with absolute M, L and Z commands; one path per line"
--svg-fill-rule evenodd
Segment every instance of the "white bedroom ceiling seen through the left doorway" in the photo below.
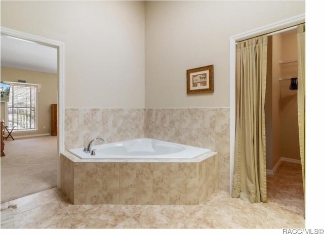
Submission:
M 57 49 L 2 34 L 1 66 L 57 73 Z

